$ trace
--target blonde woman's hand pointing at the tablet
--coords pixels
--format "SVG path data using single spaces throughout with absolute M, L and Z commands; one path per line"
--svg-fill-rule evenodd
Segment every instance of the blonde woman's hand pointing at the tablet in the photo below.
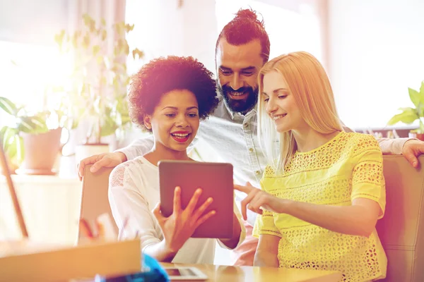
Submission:
M 254 188 L 250 183 L 247 183 L 247 186 L 234 185 L 234 189 L 247 194 L 245 200 L 241 202 L 242 215 L 245 220 L 247 220 L 246 207 L 257 214 L 262 214 L 262 209 L 266 209 L 269 212 L 283 213 L 284 204 L 280 198 Z

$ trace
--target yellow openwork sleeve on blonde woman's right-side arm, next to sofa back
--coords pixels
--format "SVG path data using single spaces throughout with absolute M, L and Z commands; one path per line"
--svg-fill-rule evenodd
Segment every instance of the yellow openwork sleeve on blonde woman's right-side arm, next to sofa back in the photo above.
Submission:
M 366 198 L 377 202 L 384 216 L 386 188 L 383 176 L 383 156 L 375 137 L 364 135 L 358 142 L 352 175 L 351 200 Z

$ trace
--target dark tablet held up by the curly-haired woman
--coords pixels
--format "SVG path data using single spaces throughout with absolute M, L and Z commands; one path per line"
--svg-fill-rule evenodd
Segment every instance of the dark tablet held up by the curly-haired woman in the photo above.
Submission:
M 170 216 L 173 209 L 175 187 L 181 188 L 181 206 L 187 207 L 197 188 L 202 189 L 196 207 L 200 207 L 208 197 L 212 204 L 205 214 L 215 210 L 216 214 L 202 223 L 192 238 L 232 238 L 233 224 L 233 180 L 232 165 L 199 161 L 160 161 L 160 210 Z

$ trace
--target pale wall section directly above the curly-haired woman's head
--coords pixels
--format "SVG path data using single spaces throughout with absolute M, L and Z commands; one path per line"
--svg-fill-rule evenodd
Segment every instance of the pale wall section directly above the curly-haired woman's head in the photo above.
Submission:
M 137 71 L 143 62 L 158 56 L 194 56 L 211 71 L 215 66 L 216 30 L 214 0 L 126 0 L 126 22 L 134 24 L 130 47 L 146 52 L 146 58 L 130 64 Z

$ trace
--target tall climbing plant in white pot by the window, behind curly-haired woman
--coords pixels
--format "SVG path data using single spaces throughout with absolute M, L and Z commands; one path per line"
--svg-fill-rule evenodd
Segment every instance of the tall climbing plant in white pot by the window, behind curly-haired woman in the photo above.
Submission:
M 119 22 L 108 27 L 105 20 L 98 24 L 87 14 L 83 15 L 83 23 L 73 34 L 62 30 L 54 38 L 60 51 L 70 54 L 75 64 L 65 87 L 72 128 L 81 123 L 87 128 L 84 140 L 76 149 L 76 153 L 80 153 L 77 161 L 108 152 L 109 146 L 102 142 L 102 137 L 131 126 L 126 103 L 130 79 L 126 70 L 130 54 L 126 34 L 134 25 Z M 131 55 L 133 59 L 140 59 L 143 52 L 134 49 Z

